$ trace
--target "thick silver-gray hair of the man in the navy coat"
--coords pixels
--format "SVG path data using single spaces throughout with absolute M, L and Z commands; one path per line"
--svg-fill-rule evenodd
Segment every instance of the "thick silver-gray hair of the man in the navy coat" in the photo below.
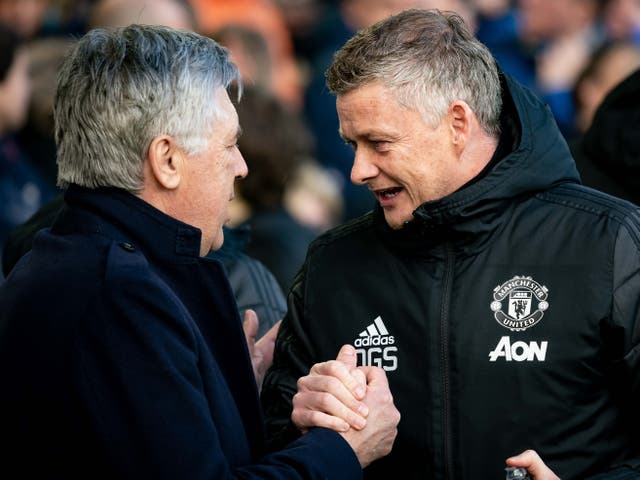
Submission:
M 240 81 L 227 49 L 193 32 L 130 25 L 91 30 L 71 49 L 54 101 L 58 185 L 143 187 L 151 141 L 202 151 L 218 88 Z

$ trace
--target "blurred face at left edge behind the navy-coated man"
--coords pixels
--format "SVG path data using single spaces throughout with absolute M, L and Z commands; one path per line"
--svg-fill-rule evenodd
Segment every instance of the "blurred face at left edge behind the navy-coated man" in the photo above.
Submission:
M 21 48 L 0 83 L 0 132 L 14 131 L 24 124 L 30 95 L 29 57 Z

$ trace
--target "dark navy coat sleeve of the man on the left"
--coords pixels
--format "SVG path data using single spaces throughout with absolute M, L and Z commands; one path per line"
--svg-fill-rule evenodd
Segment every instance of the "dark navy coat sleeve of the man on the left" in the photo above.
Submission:
M 128 269 L 105 280 L 74 340 L 78 414 L 91 419 L 114 477 L 360 478 L 348 443 L 325 429 L 259 459 L 242 453 L 240 410 L 195 324 L 163 282 Z

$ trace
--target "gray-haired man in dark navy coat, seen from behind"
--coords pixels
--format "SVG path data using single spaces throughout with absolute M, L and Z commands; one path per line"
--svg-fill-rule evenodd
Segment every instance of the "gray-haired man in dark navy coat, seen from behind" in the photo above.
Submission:
M 257 385 L 274 334 L 247 348 L 223 266 L 204 257 L 247 174 L 235 80 L 226 49 L 167 27 L 92 30 L 65 59 L 65 207 L 0 288 L 3 471 L 352 479 L 390 451 L 399 414 L 365 367 L 365 429 L 311 429 L 266 455 Z M 333 363 L 354 360 L 345 347 Z

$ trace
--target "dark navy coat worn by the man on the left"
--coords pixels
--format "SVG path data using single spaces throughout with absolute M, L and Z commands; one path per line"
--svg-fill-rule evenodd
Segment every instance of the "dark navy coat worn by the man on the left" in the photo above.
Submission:
M 65 201 L 0 288 L 0 477 L 360 478 L 324 429 L 264 456 L 240 318 L 198 229 L 115 189 Z

